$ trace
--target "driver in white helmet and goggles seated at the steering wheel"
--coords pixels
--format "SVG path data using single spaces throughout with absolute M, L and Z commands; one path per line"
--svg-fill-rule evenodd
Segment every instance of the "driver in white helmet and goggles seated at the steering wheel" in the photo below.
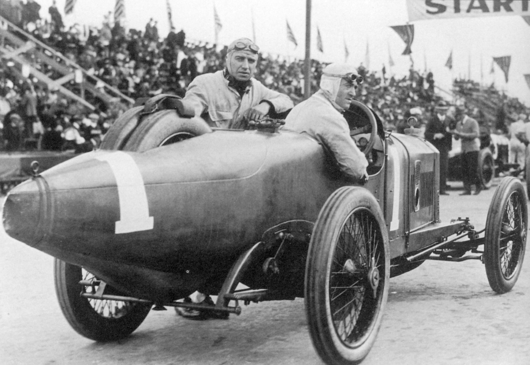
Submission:
M 343 112 L 348 110 L 363 82 L 355 67 L 330 64 L 322 71 L 320 90 L 293 108 L 284 129 L 306 133 L 326 146 L 345 176 L 355 182 L 368 180 L 368 161 L 350 136 Z

